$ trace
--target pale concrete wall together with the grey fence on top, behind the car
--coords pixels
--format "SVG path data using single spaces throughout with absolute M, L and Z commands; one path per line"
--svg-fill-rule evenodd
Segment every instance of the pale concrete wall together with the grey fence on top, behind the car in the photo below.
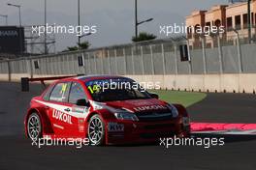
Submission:
M 180 43 L 182 44 L 182 43 Z M 74 74 L 121 74 L 162 89 L 255 93 L 256 43 L 194 49 L 181 61 L 179 43 L 115 46 L 0 61 L 0 80 Z M 79 60 L 80 59 L 80 60 Z

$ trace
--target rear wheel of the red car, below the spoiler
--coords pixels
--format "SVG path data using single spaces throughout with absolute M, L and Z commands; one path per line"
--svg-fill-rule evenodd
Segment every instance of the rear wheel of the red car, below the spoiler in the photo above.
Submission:
M 42 124 L 37 113 L 32 113 L 27 120 L 27 134 L 31 140 L 42 137 Z

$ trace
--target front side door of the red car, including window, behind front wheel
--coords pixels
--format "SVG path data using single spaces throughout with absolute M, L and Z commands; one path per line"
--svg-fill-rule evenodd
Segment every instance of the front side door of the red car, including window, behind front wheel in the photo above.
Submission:
M 69 93 L 69 103 L 72 104 L 72 115 L 76 117 L 74 119 L 74 126 L 72 127 L 74 137 L 84 137 L 85 128 L 84 121 L 88 115 L 89 108 L 85 105 L 77 105 L 79 99 L 87 100 L 85 91 L 80 84 L 80 82 L 72 82 L 70 93 Z

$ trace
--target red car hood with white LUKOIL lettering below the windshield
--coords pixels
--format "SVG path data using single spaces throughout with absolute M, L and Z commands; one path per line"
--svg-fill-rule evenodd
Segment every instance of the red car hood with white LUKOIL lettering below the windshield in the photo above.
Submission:
M 99 104 L 99 102 L 97 102 Z M 114 109 L 123 109 L 130 112 L 168 112 L 168 104 L 159 99 L 129 99 L 119 101 L 108 101 L 100 103 L 103 107 L 112 107 Z

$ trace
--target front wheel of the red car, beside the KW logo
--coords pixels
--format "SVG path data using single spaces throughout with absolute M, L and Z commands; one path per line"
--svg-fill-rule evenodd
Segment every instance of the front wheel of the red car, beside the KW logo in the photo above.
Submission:
M 104 122 L 99 115 L 94 115 L 90 118 L 88 125 L 88 138 L 91 145 L 100 146 L 105 142 Z

